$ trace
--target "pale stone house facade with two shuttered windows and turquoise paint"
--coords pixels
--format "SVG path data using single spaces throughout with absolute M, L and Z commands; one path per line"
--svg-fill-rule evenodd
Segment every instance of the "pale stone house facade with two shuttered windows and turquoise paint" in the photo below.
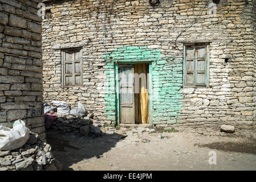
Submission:
M 43 2 L 45 102 L 122 123 L 119 66 L 147 64 L 149 124 L 255 129 L 255 1 Z

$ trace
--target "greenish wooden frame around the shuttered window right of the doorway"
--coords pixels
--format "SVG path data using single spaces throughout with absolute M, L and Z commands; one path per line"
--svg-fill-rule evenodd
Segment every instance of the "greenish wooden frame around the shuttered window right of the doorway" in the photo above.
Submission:
M 206 70 L 205 70 L 205 86 L 197 86 L 196 82 L 194 83 L 194 85 L 186 85 L 185 83 L 185 76 L 186 76 L 186 48 L 187 47 L 191 47 L 193 46 L 198 47 L 198 46 L 205 46 L 206 47 L 206 52 L 205 52 L 205 56 L 206 56 Z M 210 62 L 210 43 L 209 42 L 197 42 L 197 43 L 184 43 L 183 44 L 183 88 L 209 88 L 209 62 Z M 194 68 L 194 73 L 196 72 L 196 68 Z M 194 75 L 194 78 L 196 76 Z

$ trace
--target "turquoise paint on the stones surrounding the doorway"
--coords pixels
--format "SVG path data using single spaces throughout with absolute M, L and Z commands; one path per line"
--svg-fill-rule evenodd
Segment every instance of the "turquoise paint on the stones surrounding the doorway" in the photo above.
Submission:
M 152 68 L 152 121 L 178 123 L 182 109 L 182 59 L 162 57 L 160 49 L 147 46 L 123 46 L 105 52 L 105 116 L 108 121 L 117 121 L 117 99 L 115 93 L 115 63 L 151 62 Z

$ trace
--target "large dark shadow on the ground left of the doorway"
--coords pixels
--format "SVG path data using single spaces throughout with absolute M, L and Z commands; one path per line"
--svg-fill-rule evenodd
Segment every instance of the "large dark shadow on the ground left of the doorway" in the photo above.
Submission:
M 56 130 L 46 130 L 46 139 L 52 147 L 52 154 L 63 165 L 63 170 L 71 171 L 72 164 L 93 157 L 101 158 L 104 152 L 115 147 L 124 135 L 114 134 L 102 137 L 84 137 L 75 133 L 64 133 Z M 89 169 L 90 170 L 90 169 Z

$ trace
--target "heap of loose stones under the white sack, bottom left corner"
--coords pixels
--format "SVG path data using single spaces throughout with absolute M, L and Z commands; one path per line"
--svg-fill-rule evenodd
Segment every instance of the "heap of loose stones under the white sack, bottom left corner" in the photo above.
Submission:
M 62 165 L 54 159 L 51 146 L 30 132 L 27 143 L 15 150 L 0 151 L 0 171 L 58 171 Z

